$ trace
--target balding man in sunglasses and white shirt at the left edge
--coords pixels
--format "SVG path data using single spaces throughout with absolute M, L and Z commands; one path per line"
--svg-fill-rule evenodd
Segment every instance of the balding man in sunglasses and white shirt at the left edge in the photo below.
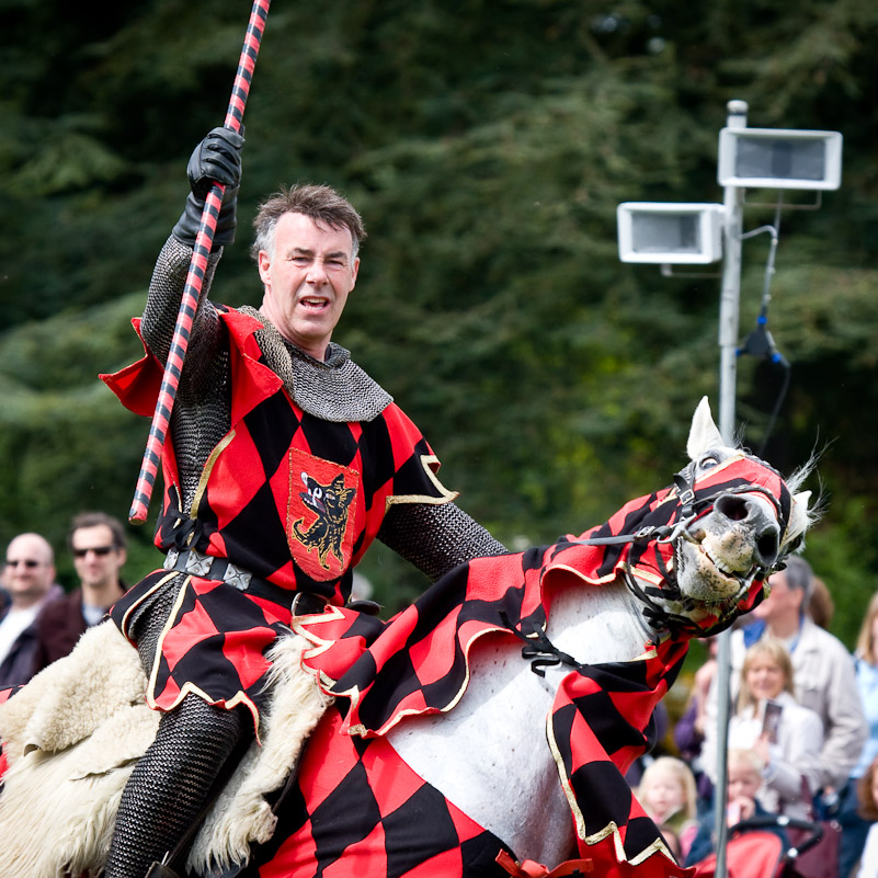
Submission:
M 26 683 L 34 674 L 37 619 L 55 584 L 55 552 L 39 534 L 19 534 L 7 547 L 3 585 L 9 605 L 0 613 L 0 688 Z

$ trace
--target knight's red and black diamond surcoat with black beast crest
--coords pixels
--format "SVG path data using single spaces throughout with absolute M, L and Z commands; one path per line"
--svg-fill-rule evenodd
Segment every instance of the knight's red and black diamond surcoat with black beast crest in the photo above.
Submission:
M 226 707 L 243 703 L 255 719 L 269 666 L 263 650 L 289 624 L 293 595 L 304 591 L 344 603 L 352 570 L 391 504 L 440 504 L 455 494 L 437 480 L 437 458 L 396 403 L 356 423 L 303 411 L 265 364 L 254 338 L 261 323 L 231 309 L 218 313 L 229 337 L 231 429 L 204 467 L 189 515 L 180 512 L 173 443 L 164 444 L 155 541 L 166 552 L 196 549 L 228 559 L 278 586 L 277 594 L 255 596 L 187 577 L 147 697 L 168 710 L 195 692 Z M 135 327 L 139 332 L 139 321 Z M 161 381 L 153 356 L 102 377 L 126 408 L 151 415 Z M 126 636 L 138 605 L 176 575 L 150 573 L 116 604 L 112 615 Z

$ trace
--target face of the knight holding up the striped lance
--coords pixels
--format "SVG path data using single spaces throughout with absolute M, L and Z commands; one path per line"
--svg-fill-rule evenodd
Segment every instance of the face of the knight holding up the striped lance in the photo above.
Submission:
M 304 214 L 284 214 L 275 227 L 274 253 L 259 253 L 263 313 L 317 360 L 324 358 L 356 283 L 360 260 L 352 254 L 349 229 L 317 226 Z

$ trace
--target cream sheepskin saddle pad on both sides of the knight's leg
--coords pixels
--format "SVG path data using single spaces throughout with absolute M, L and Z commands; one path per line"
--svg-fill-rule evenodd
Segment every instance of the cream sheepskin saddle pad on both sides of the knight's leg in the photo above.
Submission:
M 274 831 L 265 796 L 284 784 L 331 703 L 300 668 L 308 646 L 290 634 L 272 649 L 272 705 L 261 741 L 202 825 L 187 863 L 196 874 L 246 863 L 250 844 Z M 9 764 L 0 793 L 3 878 L 100 874 L 122 790 L 158 728 L 146 684 L 137 650 L 105 622 L 0 705 Z

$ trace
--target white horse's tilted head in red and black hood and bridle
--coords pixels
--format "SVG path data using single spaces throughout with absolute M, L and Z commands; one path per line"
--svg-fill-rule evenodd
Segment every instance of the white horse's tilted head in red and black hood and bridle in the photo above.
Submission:
M 707 398 L 695 411 L 689 464 L 674 484 L 631 501 L 585 543 L 611 548 L 617 573 L 658 631 L 716 634 L 767 593 L 769 573 L 802 545 L 812 521 L 810 491 L 797 492 L 810 466 L 785 479 L 764 460 L 730 447 Z M 613 538 L 600 537 L 607 533 Z

